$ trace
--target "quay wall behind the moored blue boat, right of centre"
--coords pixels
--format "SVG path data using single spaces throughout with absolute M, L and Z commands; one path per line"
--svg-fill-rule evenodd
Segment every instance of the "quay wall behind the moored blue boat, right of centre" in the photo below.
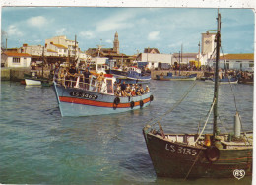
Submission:
M 178 75 L 179 71 L 177 70 L 176 72 L 174 70 L 153 70 L 151 71 L 151 78 L 152 79 L 157 79 L 156 75 L 161 75 L 163 76 L 167 75 L 167 73 L 172 73 L 175 75 L 175 73 Z M 187 74 L 197 74 L 197 79 L 200 79 L 201 77 L 204 76 L 204 71 L 180 71 L 180 75 L 187 75 Z

